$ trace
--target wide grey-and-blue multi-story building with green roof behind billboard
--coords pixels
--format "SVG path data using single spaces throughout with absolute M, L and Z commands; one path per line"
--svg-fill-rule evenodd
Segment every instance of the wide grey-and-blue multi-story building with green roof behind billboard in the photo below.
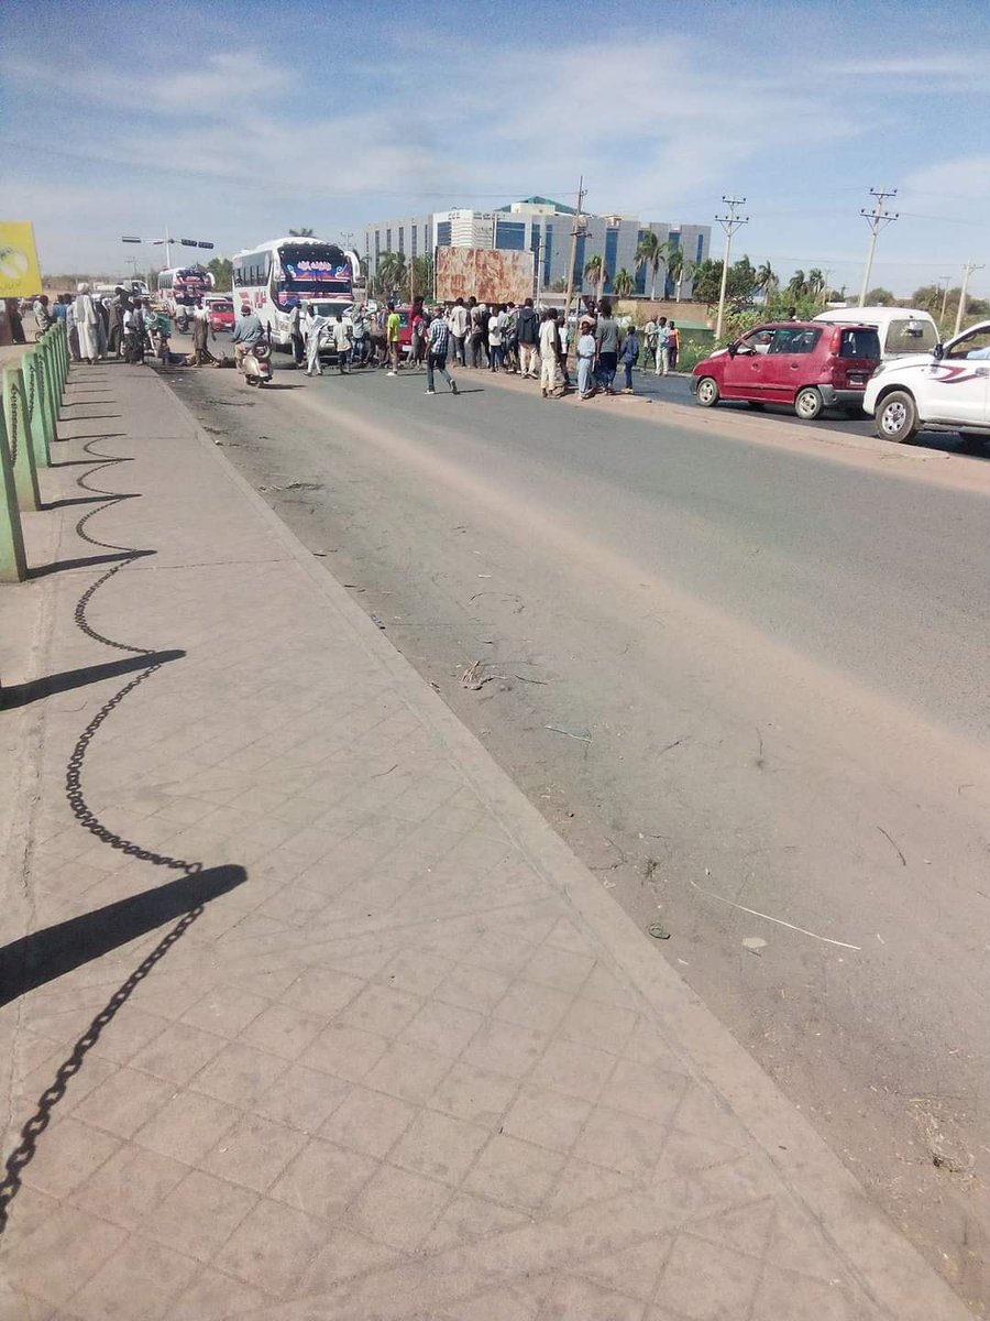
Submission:
M 548 289 L 566 281 L 570 263 L 576 211 L 548 197 L 528 197 L 510 202 L 495 211 L 453 210 L 426 215 L 408 215 L 397 221 L 379 221 L 364 229 L 364 254 L 368 269 L 375 271 L 383 252 L 401 252 L 407 260 L 432 254 L 434 247 L 487 247 L 529 251 L 536 258 L 539 287 Z M 574 283 L 585 293 L 594 292 L 594 281 L 585 276 L 593 256 L 602 256 L 609 272 L 605 292 L 614 291 L 615 276 L 628 271 L 636 293 L 648 295 L 652 272 L 636 269 L 636 251 L 648 231 L 661 243 L 680 248 L 686 260 L 704 262 L 710 252 L 709 225 L 676 225 L 663 221 L 639 221 L 623 215 L 582 215 L 574 246 Z M 690 297 L 692 283 L 682 280 L 681 293 Z M 657 276 L 657 297 L 673 293 L 673 281 Z

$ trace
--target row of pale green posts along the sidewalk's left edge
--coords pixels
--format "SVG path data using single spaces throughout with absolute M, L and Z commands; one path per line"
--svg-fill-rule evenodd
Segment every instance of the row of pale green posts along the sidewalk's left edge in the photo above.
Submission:
M 0 410 L 0 583 L 28 576 L 21 513 L 41 509 L 38 468 L 50 468 L 69 375 L 69 342 L 57 321 L 20 363 L 4 370 Z

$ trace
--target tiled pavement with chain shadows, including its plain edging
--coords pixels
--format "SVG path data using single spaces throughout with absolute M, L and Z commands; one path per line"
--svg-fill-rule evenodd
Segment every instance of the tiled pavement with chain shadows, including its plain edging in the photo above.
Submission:
M 153 373 L 67 396 L 0 1317 L 969 1316 Z

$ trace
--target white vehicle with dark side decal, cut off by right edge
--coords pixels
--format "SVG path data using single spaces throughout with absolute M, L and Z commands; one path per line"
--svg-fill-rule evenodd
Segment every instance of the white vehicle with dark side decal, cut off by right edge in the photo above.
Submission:
M 923 427 L 990 439 L 990 321 L 931 353 L 878 367 L 863 398 L 883 440 L 908 441 Z

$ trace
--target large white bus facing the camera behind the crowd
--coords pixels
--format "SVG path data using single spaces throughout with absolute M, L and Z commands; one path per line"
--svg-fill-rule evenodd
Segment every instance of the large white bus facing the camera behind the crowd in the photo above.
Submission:
M 354 276 L 360 269 L 356 252 L 325 239 L 288 236 L 269 239 L 232 258 L 234 308 L 249 303 L 272 343 L 288 347 L 289 317 L 298 303 L 315 312 L 347 316 L 354 306 Z

